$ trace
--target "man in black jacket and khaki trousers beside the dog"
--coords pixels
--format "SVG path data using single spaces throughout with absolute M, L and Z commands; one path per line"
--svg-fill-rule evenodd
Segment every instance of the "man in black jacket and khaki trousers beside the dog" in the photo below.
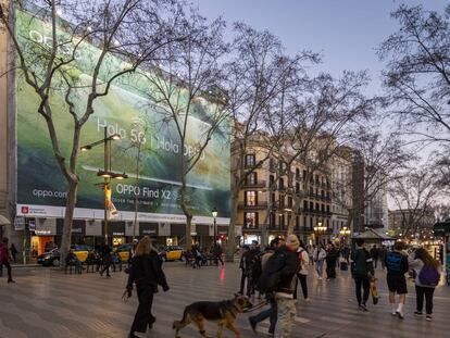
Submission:
M 264 273 L 261 278 L 267 275 L 276 276 L 274 293 L 277 306 L 277 323 L 275 327 L 275 337 L 290 337 L 290 329 L 296 317 L 296 304 L 293 302 L 293 292 L 296 290 L 297 272 L 300 267 L 300 261 L 297 255 L 297 249 L 300 242 L 296 235 L 289 235 L 286 245 L 278 248 L 268 259 Z

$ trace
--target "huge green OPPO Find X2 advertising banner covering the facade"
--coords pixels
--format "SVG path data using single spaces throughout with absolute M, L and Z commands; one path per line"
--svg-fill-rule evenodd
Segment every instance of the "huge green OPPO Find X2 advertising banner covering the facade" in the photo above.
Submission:
M 51 45 L 48 23 L 23 11 L 17 11 L 16 21 L 17 38 L 25 51 L 30 41 L 42 48 Z M 64 34 L 59 33 L 61 37 Z M 72 53 L 70 45 L 61 53 Z M 78 113 L 85 108 L 99 54 L 100 50 L 93 45 L 80 42 L 76 61 L 71 65 L 71 74 L 77 80 L 72 97 L 76 100 Z M 26 57 L 33 58 L 33 50 Z M 108 55 L 100 70 L 100 78 L 107 78 L 122 67 L 122 60 Z M 166 108 L 157 103 L 157 91 L 148 80 L 152 76 L 157 75 L 138 70 L 114 82 L 109 95 L 96 101 L 95 113 L 83 128 L 80 146 L 102 139 L 104 127 L 108 135 L 121 135 L 120 140 L 111 142 L 111 171 L 128 175 L 127 179 L 112 180 L 111 184 L 112 201 L 118 210 L 117 220 L 134 220 L 135 196 L 138 195 L 139 220 L 183 223 L 185 216 L 179 208 L 180 155 L 193 154 L 204 142 L 204 132 L 210 127 L 214 112 L 221 108 L 205 98 L 196 98 L 192 114 L 188 117 L 187 145 L 182 149 L 174 121 L 167 118 Z M 68 159 L 74 121 L 64 101 L 64 86 L 54 87 L 50 92 L 50 104 L 61 151 Z M 61 217 L 64 215 L 67 186 L 55 161 L 46 121 L 37 113 L 40 100 L 21 75 L 17 76 L 16 100 L 17 214 Z M 177 100 L 187 101 L 187 92 L 182 92 Z M 136 143 L 141 143 L 137 186 Z M 80 184 L 75 217 L 103 217 L 102 177 L 97 176 L 98 170 L 103 167 L 103 159 L 101 145 L 79 153 L 77 173 Z M 211 211 L 217 208 L 217 223 L 228 224 L 229 165 L 229 122 L 225 120 L 187 177 L 193 223 L 211 223 Z

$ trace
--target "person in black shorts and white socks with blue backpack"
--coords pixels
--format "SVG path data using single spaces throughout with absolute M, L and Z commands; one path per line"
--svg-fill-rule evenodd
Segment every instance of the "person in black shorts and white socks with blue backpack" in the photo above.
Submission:
M 404 302 L 407 300 L 407 278 L 404 274 L 409 271 L 408 256 L 403 252 L 405 245 L 402 241 L 397 241 L 393 245 L 393 251 L 386 255 L 387 267 L 387 285 L 389 289 L 389 303 L 391 305 L 391 314 L 397 315 L 403 320 Z M 396 306 L 396 293 L 399 295 L 399 304 Z

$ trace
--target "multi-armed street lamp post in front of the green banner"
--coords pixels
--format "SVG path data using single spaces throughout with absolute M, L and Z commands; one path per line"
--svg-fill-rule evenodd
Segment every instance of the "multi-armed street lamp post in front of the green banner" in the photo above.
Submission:
M 113 134 L 108 136 L 108 129 L 104 127 L 103 139 L 98 140 L 96 142 L 83 146 L 80 148 L 82 151 L 89 151 L 93 147 L 103 145 L 103 152 L 104 152 L 104 164 L 103 170 L 99 170 L 97 172 L 97 176 L 103 177 L 103 196 L 104 196 L 104 203 L 103 203 L 103 230 L 104 230 L 104 243 L 108 245 L 108 209 L 111 208 L 111 188 L 110 183 L 111 178 L 115 179 L 124 179 L 128 178 L 128 175 L 125 173 L 113 173 L 111 172 L 111 141 L 121 139 L 120 134 Z

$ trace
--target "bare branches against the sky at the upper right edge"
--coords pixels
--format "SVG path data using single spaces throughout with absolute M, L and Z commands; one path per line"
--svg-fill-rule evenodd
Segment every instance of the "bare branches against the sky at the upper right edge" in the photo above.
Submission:
M 400 5 L 400 28 L 378 48 L 387 60 L 387 99 L 399 130 L 415 141 L 450 142 L 450 7 L 443 13 Z

